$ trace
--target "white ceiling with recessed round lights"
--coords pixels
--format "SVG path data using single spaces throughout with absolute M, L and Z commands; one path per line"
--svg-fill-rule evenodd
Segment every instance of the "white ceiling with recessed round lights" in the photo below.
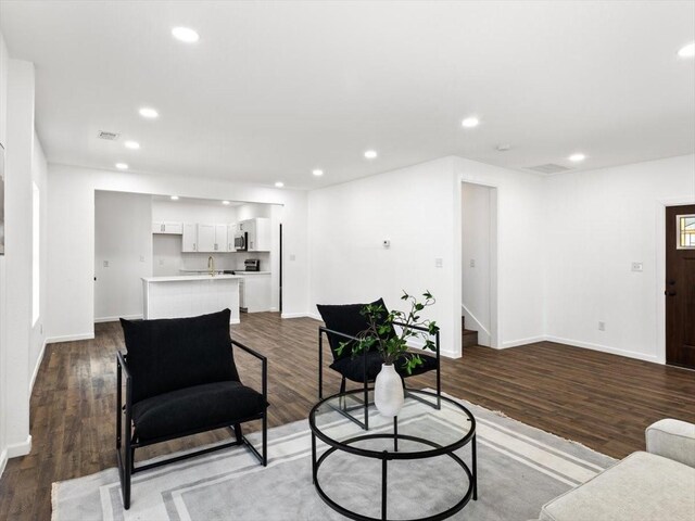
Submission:
M 677 55 L 694 1 L 2 0 L 0 28 L 36 65 L 55 163 L 311 189 L 448 154 L 521 169 L 695 151 L 695 61 Z

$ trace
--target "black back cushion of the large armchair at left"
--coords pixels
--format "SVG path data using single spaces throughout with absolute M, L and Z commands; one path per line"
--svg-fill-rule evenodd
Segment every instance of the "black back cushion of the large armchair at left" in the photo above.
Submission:
M 229 335 L 231 312 L 192 318 L 121 319 L 132 403 L 204 383 L 239 381 Z

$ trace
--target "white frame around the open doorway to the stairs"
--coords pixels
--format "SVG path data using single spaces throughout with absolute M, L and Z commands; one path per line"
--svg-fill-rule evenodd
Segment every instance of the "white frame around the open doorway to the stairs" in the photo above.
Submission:
M 476 185 L 491 189 L 490 201 L 490 347 L 502 348 L 500 332 L 502 331 L 502 314 L 500 313 L 500 193 L 501 188 L 494 182 L 485 182 L 466 177 L 457 176 L 456 180 L 456 205 L 454 218 L 454 316 L 460 323 L 463 305 L 463 189 L 464 183 Z M 463 353 L 463 331 L 459 341 Z

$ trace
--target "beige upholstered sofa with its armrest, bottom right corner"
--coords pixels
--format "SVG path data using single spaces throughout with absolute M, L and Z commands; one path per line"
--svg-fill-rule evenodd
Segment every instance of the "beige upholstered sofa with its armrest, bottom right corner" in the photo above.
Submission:
M 695 521 L 695 424 L 657 421 L 646 446 L 544 505 L 540 521 Z

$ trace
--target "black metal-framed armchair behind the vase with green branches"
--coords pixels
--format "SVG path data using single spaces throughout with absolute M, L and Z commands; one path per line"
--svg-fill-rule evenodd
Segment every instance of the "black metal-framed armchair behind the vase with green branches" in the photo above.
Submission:
M 386 304 L 383 303 L 383 298 L 379 298 L 372 304 L 381 305 L 384 309 L 387 308 Z M 365 351 L 356 357 L 352 356 L 351 342 L 355 342 L 357 340 L 357 336 L 362 332 L 366 331 L 369 326 L 367 318 L 362 315 L 362 309 L 364 308 L 364 306 L 365 304 L 318 304 L 316 306 L 318 308 L 318 313 L 324 319 L 324 323 L 326 323 L 326 327 L 318 328 L 318 399 L 321 399 L 324 396 L 324 335 L 326 335 L 328 338 L 328 343 L 330 345 L 330 351 L 333 357 L 333 361 L 329 367 L 332 370 L 338 371 L 341 376 L 340 392 L 345 392 L 348 380 L 362 383 L 364 390 L 362 401 L 357 405 L 348 406 L 348 404 L 343 404 L 343 408 L 339 412 L 343 414 L 345 417 L 359 424 L 363 429 L 368 430 L 369 383 L 374 382 L 377 378 L 377 374 L 381 370 L 382 360 L 381 355 L 376 350 Z M 404 323 L 399 322 L 394 322 L 394 325 L 396 327 L 406 327 Z M 410 326 L 410 328 L 427 332 L 427 328 L 414 326 Z M 395 334 L 395 331 L 392 332 L 392 334 Z M 342 354 L 339 354 L 338 347 L 341 343 L 346 343 L 348 346 L 342 351 Z M 429 403 L 420 396 L 416 396 L 414 394 L 412 394 L 410 396 L 439 409 L 441 406 L 440 397 L 442 394 L 439 332 L 434 335 L 434 346 L 435 351 L 433 356 L 424 352 L 418 352 L 420 358 L 422 359 L 422 364 L 416 366 L 416 368 L 413 369 L 412 373 L 408 374 L 408 372 L 403 367 L 403 364 L 400 363 L 395 364 L 395 369 L 403 379 L 403 387 L 406 394 L 406 378 L 414 377 L 416 374 L 422 374 L 432 370 L 435 371 L 437 403 Z M 352 398 L 354 398 L 355 396 L 356 395 L 350 395 L 350 397 Z M 353 410 L 359 408 L 364 409 L 364 421 L 359 421 L 351 414 Z

